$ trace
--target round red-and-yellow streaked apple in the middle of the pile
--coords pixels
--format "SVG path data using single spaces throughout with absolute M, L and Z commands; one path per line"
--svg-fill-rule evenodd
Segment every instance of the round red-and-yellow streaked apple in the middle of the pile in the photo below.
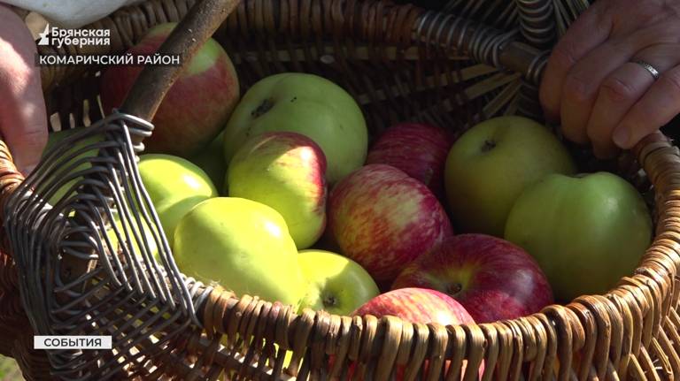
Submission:
M 378 284 L 453 234 L 428 187 L 404 171 L 368 164 L 337 183 L 328 200 L 328 227 L 342 254 Z

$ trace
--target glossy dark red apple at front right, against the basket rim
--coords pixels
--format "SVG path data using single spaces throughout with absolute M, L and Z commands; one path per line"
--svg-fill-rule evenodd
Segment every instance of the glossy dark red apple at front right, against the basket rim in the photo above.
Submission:
M 404 287 L 447 293 L 477 323 L 527 316 L 553 303 L 553 291 L 534 258 L 485 234 L 460 234 L 421 255 L 392 285 Z

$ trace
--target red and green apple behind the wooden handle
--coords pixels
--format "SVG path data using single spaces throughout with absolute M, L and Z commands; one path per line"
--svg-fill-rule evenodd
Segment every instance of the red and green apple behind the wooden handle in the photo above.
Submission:
M 133 56 L 155 53 L 172 32 L 174 23 L 153 27 L 128 53 Z M 128 95 L 140 65 L 111 66 L 102 76 L 102 105 L 105 113 Z M 227 52 L 209 39 L 167 92 L 152 123 L 155 128 L 144 140 L 147 153 L 188 157 L 207 146 L 227 124 L 238 103 L 236 70 Z

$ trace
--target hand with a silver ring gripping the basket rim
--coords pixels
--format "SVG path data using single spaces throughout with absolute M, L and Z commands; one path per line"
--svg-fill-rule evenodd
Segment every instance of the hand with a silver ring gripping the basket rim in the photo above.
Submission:
M 553 50 L 540 98 L 600 158 L 667 124 L 680 113 L 680 0 L 598 0 Z

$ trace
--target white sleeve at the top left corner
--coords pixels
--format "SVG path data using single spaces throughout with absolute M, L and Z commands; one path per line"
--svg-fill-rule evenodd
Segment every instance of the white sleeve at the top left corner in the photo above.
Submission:
M 35 11 L 58 27 L 82 27 L 103 19 L 120 7 L 140 0 L 0 0 L 27 11 Z

